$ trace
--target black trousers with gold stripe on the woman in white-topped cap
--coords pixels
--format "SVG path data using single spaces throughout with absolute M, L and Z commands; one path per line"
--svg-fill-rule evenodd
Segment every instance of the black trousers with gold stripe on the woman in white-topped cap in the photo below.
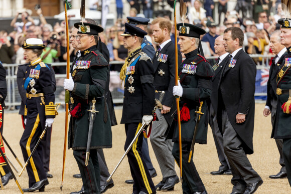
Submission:
M 30 156 L 43 131 L 40 123 L 40 116 L 33 101 L 34 100 L 28 101 L 30 104 L 27 105 L 28 113 L 26 127 L 20 139 L 20 147 L 24 161 L 26 161 Z M 35 182 L 47 178 L 46 172 L 44 170 L 43 148 L 41 143 L 31 157 L 30 162 L 26 166 L 26 169 L 29 176 L 29 187 L 31 187 Z

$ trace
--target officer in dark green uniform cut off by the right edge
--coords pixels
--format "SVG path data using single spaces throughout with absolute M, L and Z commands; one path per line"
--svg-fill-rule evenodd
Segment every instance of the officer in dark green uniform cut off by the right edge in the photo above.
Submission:
M 289 125 L 291 122 L 291 19 L 281 18 L 278 20 L 278 24 L 282 25 L 281 45 L 286 47 L 287 55 L 281 62 L 276 78 L 278 101 L 271 138 L 283 139 L 283 159 L 291 185 L 291 130 Z

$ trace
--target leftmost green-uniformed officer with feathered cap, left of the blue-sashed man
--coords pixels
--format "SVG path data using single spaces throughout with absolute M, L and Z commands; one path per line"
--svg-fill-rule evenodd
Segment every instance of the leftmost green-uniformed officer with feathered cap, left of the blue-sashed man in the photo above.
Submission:
M 104 97 L 109 64 L 97 50 L 98 33 L 103 29 L 89 23 L 75 23 L 78 29 L 77 49 L 81 56 L 70 68 L 70 79 L 65 79 L 64 88 L 70 91 L 71 119 L 68 146 L 72 148 L 78 163 L 85 193 L 100 193 L 100 168 L 98 148 L 112 147 L 111 122 Z M 89 111 L 95 98 L 95 119 L 89 133 Z M 91 121 L 90 121 L 91 122 Z M 91 135 L 88 165 L 85 165 L 88 136 Z

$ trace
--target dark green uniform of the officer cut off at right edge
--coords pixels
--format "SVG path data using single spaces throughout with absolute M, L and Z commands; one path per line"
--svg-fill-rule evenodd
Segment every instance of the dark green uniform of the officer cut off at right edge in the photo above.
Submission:
M 278 94 L 277 111 L 275 122 L 272 129 L 271 138 L 283 139 L 283 159 L 287 171 L 289 184 L 291 185 L 291 115 L 284 113 L 281 106 L 288 101 L 291 91 L 291 64 L 286 62 L 287 58 L 291 58 L 291 47 L 287 48 L 287 55 L 283 58 L 281 66 L 276 76 L 277 88 L 284 90 L 286 93 Z

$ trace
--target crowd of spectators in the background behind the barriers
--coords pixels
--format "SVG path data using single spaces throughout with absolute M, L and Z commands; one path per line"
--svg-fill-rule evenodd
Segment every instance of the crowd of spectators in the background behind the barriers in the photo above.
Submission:
M 90 9 L 100 9 L 99 2 L 98 0 L 90 1 Z M 179 8 L 180 3 L 177 2 Z M 256 2 L 253 0 L 237 0 L 236 5 L 232 5 L 233 10 L 229 9 L 228 0 L 219 0 L 218 3 L 214 3 L 213 0 L 184 0 L 184 2 L 186 2 L 188 10 L 188 18 L 185 22 L 195 24 L 207 32 L 206 35 L 201 37 L 206 57 L 216 56 L 213 48 L 214 40 L 217 36 L 222 35 L 228 27 L 239 27 L 244 31 L 243 48 L 248 54 L 271 54 L 268 46 L 269 37 L 273 31 L 279 29 L 277 20 L 283 17 L 281 5 L 276 0 L 272 2 L 268 0 L 258 0 Z M 123 4 L 130 5 L 128 14 L 124 13 Z M 100 34 L 100 38 L 109 50 L 110 61 L 122 62 L 127 57 L 127 50 L 123 47 L 122 38 L 119 36 L 123 32 L 127 16 L 167 17 L 172 19 L 173 7 L 174 0 L 142 0 L 141 4 L 137 0 L 116 0 L 116 23 Z M 217 22 L 213 20 L 216 7 L 218 11 Z M 0 31 L 0 60 L 3 64 L 26 63 L 21 45 L 27 38 L 43 40 L 46 48 L 41 57 L 45 63 L 65 62 L 67 60 L 64 21 L 51 25 L 47 23 L 41 9 L 37 10 L 36 13 L 39 16 L 39 22 L 36 22 L 31 17 L 31 11 L 27 10 L 18 13 L 11 21 L 11 26 L 14 28 L 13 32 Z M 21 21 L 18 22 L 20 18 Z M 157 48 L 158 45 L 153 41 L 152 25 L 149 24 L 148 29 L 145 30 L 148 32 L 147 39 Z M 171 38 L 174 41 L 174 31 Z M 75 55 L 76 51 L 70 45 L 70 61 L 73 61 Z M 261 58 L 254 58 L 254 60 L 258 65 L 261 64 Z M 112 65 L 110 70 L 117 72 L 117 75 L 120 68 L 121 65 Z M 65 67 L 56 66 L 54 70 L 56 74 L 66 72 Z

